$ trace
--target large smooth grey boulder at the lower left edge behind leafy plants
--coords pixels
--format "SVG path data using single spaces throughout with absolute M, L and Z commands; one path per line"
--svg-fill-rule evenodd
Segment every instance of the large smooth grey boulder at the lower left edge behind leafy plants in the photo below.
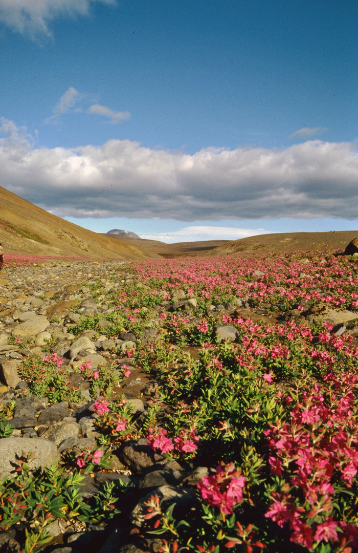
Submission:
M 42 438 L 2 438 L 0 439 L 0 478 L 15 473 L 11 462 L 16 460 L 16 455 L 22 452 L 34 453 L 34 458 L 29 462 L 30 469 L 38 467 L 50 467 L 60 461 L 60 453 L 55 444 Z

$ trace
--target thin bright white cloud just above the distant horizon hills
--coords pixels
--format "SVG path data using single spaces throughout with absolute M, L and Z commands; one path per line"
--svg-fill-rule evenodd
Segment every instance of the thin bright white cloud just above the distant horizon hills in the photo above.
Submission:
M 158 232 L 152 234 L 141 234 L 141 238 L 148 240 L 159 240 L 160 242 L 175 243 L 175 242 L 197 242 L 203 240 L 238 240 L 248 236 L 256 236 L 256 234 L 264 234 L 264 229 L 248 229 L 248 228 L 231 228 L 231 227 L 209 227 L 209 226 L 193 226 L 184 227 L 178 231 L 169 233 Z

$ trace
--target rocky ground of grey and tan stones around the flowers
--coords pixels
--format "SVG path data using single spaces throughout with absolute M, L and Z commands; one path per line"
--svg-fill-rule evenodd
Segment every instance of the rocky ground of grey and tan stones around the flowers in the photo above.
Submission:
M 115 275 L 115 280 L 113 280 Z M 260 276 L 257 274 L 257 276 Z M 155 394 L 156 382 L 141 367 L 136 367 L 127 352 L 139 342 L 150 343 L 160 327 L 159 312 L 169 309 L 163 301 L 160 310 L 152 311 L 151 322 L 140 335 L 119 333 L 108 338 L 94 330 L 83 330 L 74 335 L 71 330 L 88 315 L 100 315 L 99 328 L 106 330 L 108 316 L 115 307 L 108 301 L 109 291 L 118 291 L 122 283 L 133 279 L 127 262 L 110 261 L 56 261 L 29 267 L 13 267 L 0 272 L 0 401 L 15 401 L 12 417 L 4 421 L 14 429 L 11 437 L 0 439 L 0 476 L 13 473 L 12 463 L 27 447 L 35 453 L 34 466 L 48 466 L 62 462 L 69 451 L 77 454 L 99 437 L 93 422 L 96 415 L 86 379 L 76 372 L 81 363 L 90 360 L 92 368 L 112 363 L 120 371 L 123 364 L 130 366 L 130 377 L 123 379 L 113 390 L 113 397 L 125 393 L 133 413 L 144 413 L 148 400 Z M 96 284 L 96 294 L 93 285 Z M 182 290 L 175 291 L 175 309 L 182 309 L 193 322 L 192 308 L 195 299 L 188 299 Z M 226 312 L 246 320 L 325 319 L 335 325 L 333 332 L 351 332 L 356 337 L 354 324 L 349 322 L 356 314 L 349 310 L 328 305 L 293 306 L 285 312 L 268 314 L 268 305 L 251 309 L 249 303 L 238 299 L 226 305 L 213 306 L 213 312 Z M 298 309 L 300 307 L 300 309 Z M 349 328 L 347 328 L 349 327 Z M 219 340 L 230 337 L 235 340 L 235 328 L 218 326 L 215 333 Z M 26 342 L 26 345 L 24 346 Z M 24 393 L 27 382 L 20 379 L 19 364 L 24 359 L 45 358 L 57 353 L 67 367 L 73 368 L 73 384 L 81 388 L 81 401 L 60 401 L 50 404 L 46 397 L 28 396 Z M 193 352 L 193 356 L 195 352 Z M 55 521 L 50 532 L 54 542 L 46 551 L 56 553 L 110 553 L 157 551 L 155 538 L 141 542 L 136 536 L 144 523 L 143 503 L 155 490 L 164 498 L 164 506 L 171 503 L 190 505 L 197 497 L 196 483 L 208 473 L 206 467 L 184 470 L 176 461 L 166 461 L 157 455 L 146 439 L 134 439 L 113 447 L 112 465 L 109 471 L 88 474 L 82 483 L 84 497 L 93 497 L 104 482 L 122 481 L 133 484 L 133 492 L 119 505 L 122 522 L 118 518 L 108 524 L 78 523 L 72 520 Z M 124 500 L 122 500 L 124 501 Z M 129 530 L 132 529 L 132 534 Z M 0 534 L 0 551 L 20 551 L 23 526 L 18 525 Z M 136 541 L 135 541 L 136 539 Z

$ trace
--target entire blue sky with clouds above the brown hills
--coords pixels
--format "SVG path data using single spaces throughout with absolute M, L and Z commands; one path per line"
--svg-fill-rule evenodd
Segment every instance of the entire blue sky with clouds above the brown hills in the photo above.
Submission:
M 358 4 L 0 0 L 0 186 L 165 242 L 358 229 Z

